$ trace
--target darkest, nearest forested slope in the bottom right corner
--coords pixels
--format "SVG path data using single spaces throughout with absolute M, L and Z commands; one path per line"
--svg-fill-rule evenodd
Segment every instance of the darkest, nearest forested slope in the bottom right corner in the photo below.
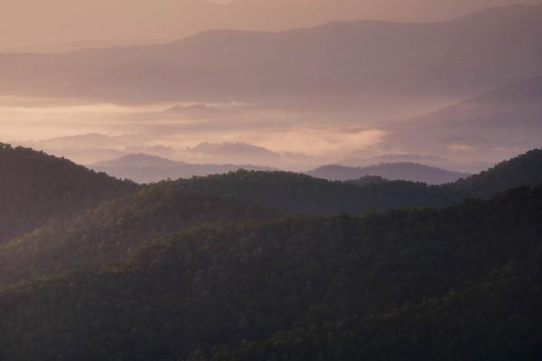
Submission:
M 541 302 L 540 283 L 510 277 L 386 314 L 218 347 L 210 359 L 537 361 L 542 356 Z

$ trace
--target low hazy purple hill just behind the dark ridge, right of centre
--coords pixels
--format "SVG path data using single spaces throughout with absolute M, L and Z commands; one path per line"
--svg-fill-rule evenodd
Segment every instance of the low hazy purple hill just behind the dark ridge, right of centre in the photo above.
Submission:
M 468 174 L 430 167 L 420 163 L 380 163 L 368 167 L 345 167 L 325 165 L 307 174 L 325 180 L 356 180 L 366 176 L 378 176 L 386 180 L 419 181 L 426 184 L 453 183 Z

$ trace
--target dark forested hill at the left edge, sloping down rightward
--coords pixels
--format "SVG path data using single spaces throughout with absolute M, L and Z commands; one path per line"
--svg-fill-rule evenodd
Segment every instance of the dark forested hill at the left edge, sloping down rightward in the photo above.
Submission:
M 133 190 L 131 182 L 0 143 L 0 243 Z

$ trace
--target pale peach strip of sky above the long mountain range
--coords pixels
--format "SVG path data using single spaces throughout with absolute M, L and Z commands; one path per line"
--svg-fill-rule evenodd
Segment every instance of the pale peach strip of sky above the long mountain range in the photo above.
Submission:
M 536 1 L 0 0 L 0 50 L 70 50 L 67 43 L 73 42 L 164 42 L 214 28 L 280 31 L 333 20 L 435 21 L 529 2 Z

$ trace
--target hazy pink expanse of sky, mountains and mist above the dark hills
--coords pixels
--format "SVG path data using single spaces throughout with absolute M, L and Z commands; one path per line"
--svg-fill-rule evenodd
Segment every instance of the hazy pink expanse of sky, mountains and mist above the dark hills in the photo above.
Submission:
M 538 2 L 224 3 L 8 1 L 0 49 L 86 50 L 0 54 L 1 141 L 294 171 L 385 154 L 465 171 L 539 146 L 542 6 L 493 8 Z M 423 23 L 329 23 L 360 19 Z

